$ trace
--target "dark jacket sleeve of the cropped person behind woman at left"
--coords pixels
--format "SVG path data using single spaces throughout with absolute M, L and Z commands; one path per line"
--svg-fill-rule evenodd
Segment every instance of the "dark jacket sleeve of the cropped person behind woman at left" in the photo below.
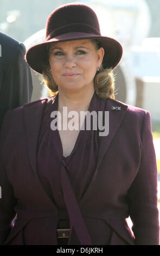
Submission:
M 31 100 L 33 81 L 30 67 L 24 60 L 24 54 L 25 46 L 20 43 L 17 45 L 16 52 L 10 61 L 3 82 L 3 89 L 1 91 L 2 102 L 0 104 L 0 125 L 8 109 L 23 106 Z

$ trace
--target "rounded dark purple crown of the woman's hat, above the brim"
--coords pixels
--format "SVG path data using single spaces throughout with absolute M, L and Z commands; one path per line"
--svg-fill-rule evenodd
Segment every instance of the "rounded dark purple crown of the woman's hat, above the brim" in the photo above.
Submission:
M 46 40 L 67 32 L 100 34 L 97 15 L 85 4 L 66 4 L 55 9 L 48 17 Z

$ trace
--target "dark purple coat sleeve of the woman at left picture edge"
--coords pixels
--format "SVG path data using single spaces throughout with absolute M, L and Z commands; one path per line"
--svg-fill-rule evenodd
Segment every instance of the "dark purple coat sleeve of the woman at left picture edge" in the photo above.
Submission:
M 7 135 L 8 113 L 5 114 L 0 133 L 0 245 L 7 239 L 13 226 L 13 220 L 16 216 L 14 210 L 18 200 L 14 196 L 14 190 L 8 181 L 7 173 L 3 165 L 2 148 Z

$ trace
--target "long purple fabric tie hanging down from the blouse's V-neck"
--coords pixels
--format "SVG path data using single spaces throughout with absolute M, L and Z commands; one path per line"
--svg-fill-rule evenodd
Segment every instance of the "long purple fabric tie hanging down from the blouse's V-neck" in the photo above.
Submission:
M 76 202 L 74 192 L 72 190 L 65 166 L 63 164 L 61 165 L 61 182 L 71 227 L 68 244 L 71 240 L 71 234 L 74 227 L 81 245 L 92 245 L 91 237 L 88 234 L 88 230 L 81 215 L 78 203 Z

